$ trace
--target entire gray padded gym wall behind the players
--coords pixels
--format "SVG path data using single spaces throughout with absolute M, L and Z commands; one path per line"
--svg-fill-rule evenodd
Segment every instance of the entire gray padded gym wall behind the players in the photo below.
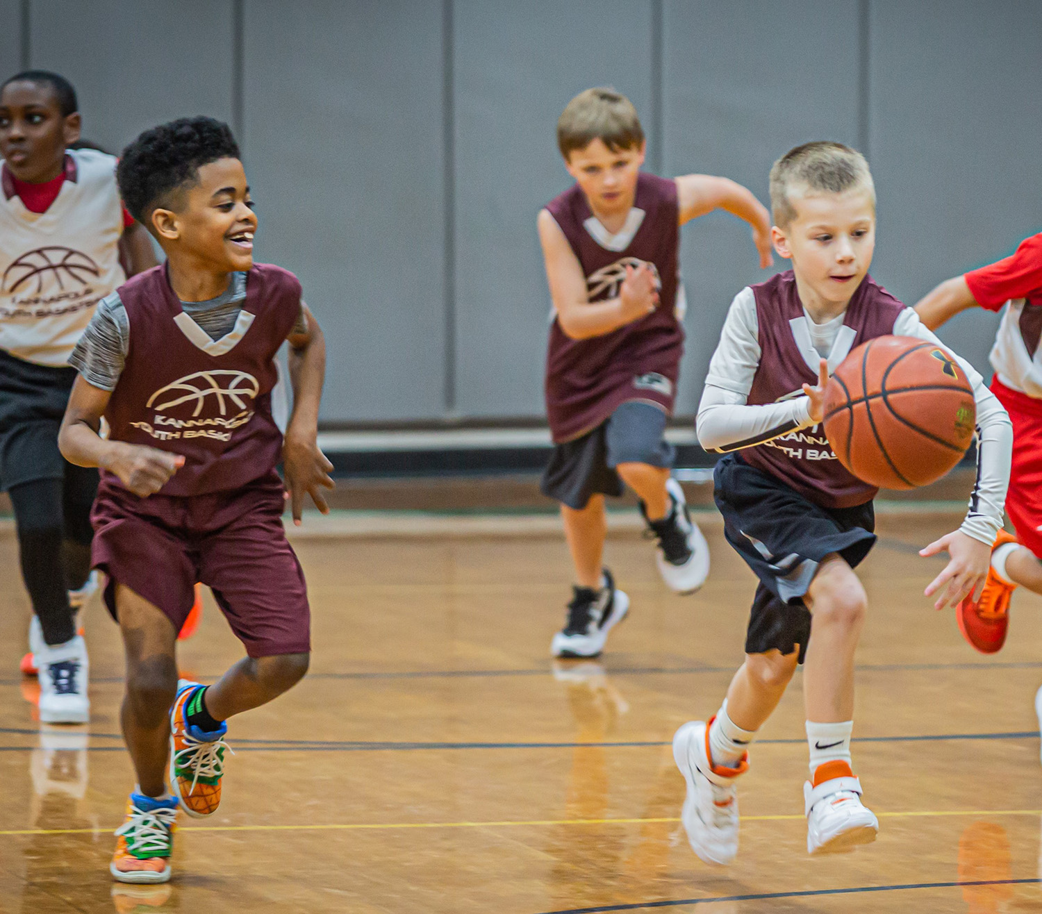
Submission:
M 557 115 L 595 83 L 636 102 L 650 168 L 724 174 L 764 201 L 792 145 L 863 145 L 879 197 L 872 272 L 909 302 L 1042 227 L 1039 3 L 26 5 L 27 63 L 75 82 L 85 137 L 118 149 L 196 113 L 243 128 L 258 255 L 300 275 L 329 339 L 327 421 L 542 416 L 535 217 L 569 181 Z M 22 6 L 0 0 L 4 74 L 23 63 Z M 690 414 L 727 304 L 767 274 L 728 216 L 683 239 Z M 995 321 L 968 313 L 943 336 L 987 372 Z

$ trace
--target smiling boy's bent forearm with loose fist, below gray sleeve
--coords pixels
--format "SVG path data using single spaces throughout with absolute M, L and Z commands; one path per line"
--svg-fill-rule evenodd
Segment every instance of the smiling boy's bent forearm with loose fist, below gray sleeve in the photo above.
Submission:
M 58 431 L 58 449 L 69 463 L 107 470 L 134 495 L 147 498 L 184 466 L 184 458 L 156 447 L 101 438 L 98 429 L 110 396 L 109 391 L 76 378 Z

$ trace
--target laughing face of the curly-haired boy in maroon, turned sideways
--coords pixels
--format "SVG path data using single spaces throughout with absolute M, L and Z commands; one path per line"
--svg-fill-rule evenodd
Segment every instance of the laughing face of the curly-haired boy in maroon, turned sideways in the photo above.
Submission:
M 190 257 L 201 269 L 239 272 L 253 266 L 257 217 L 246 172 L 238 158 L 199 167 L 197 180 L 174 192 L 170 208 L 152 211 L 155 236 L 168 254 Z

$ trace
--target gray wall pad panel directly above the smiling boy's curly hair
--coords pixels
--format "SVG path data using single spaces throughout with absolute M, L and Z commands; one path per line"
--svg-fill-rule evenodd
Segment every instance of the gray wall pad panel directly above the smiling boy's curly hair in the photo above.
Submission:
M 119 152 L 185 115 L 231 118 L 231 0 L 32 0 L 31 65 L 76 87 L 83 138 Z

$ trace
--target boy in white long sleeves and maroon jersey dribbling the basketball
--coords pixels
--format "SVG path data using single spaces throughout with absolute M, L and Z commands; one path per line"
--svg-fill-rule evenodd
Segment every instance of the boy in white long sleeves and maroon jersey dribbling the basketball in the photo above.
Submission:
M 673 739 L 688 789 L 688 838 L 715 863 L 729 863 L 738 850 L 735 783 L 748 768 L 749 744 L 804 660 L 808 849 L 875 838 L 878 823 L 851 769 L 850 735 L 866 612 L 853 568 L 875 542 L 876 490 L 842 467 L 819 423 L 828 374 L 854 346 L 889 334 L 940 346 L 914 311 L 868 275 L 875 192 L 858 152 L 837 143 L 799 146 L 774 164 L 770 192 L 774 249 L 792 269 L 735 297 L 698 409 L 702 446 L 726 453 L 715 475 L 724 535 L 760 578 L 745 663 L 726 699 L 709 723 L 686 723 Z M 984 584 L 1010 472 L 1006 412 L 959 362 L 973 385 L 979 472 L 962 526 L 920 552 L 950 554 L 926 588 L 938 609 Z

